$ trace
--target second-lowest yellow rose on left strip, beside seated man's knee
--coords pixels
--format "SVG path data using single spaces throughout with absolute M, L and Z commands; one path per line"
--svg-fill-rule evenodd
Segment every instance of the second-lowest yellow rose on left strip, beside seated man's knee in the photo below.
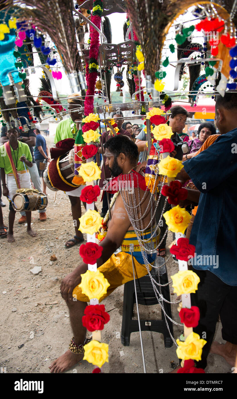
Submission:
M 105 279 L 99 269 L 96 272 L 87 270 L 86 273 L 81 275 L 81 284 L 79 284 L 79 287 L 81 288 L 81 292 L 88 296 L 89 299 L 100 299 L 106 294 L 109 286 L 108 280 Z

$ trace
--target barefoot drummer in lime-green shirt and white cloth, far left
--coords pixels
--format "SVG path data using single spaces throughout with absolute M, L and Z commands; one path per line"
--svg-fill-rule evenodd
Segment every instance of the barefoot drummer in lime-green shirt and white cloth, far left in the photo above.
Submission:
M 0 168 L 2 178 L 2 193 L 9 200 L 8 216 L 8 242 L 15 241 L 13 236 L 13 225 L 16 211 L 12 207 L 12 197 L 18 188 L 32 188 L 30 173 L 27 169 L 32 167 L 32 155 L 30 148 L 24 142 L 18 141 L 19 129 L 13 127 L 6 132 L 9 141 L 0 146 Z M 6 182 L 7 176 L 7 182 Z M 31 229 L 31 212 L 26 212 L 27 233 L 31 237 L 36 237 L 36 233 Z

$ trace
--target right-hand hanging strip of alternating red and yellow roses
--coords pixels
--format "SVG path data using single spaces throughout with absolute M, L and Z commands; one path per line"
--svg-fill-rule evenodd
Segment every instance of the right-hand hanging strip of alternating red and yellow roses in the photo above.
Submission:
M 152 111 L 152 115 L 155 111 Z M 148 114 L 148 117 L 151 116 Z M 160 125 L 161 126 L 161 125 Z M 170 138 L 164 138 L 166 140 L 166 148 L 171 147 L 172 141 Z M 171 142 L 169 144 L 169 142 Z M 184 189 L 182 189 L 181 184 L 176 184 L 179 182 L 173 181 L 178 172 L 181 170 L 182 161 L 171 158 L 168 152 L 164 154 L 163 148 L 160 145 L 160 141 L 155 143 L 156 150 L 163 154 L 163 158 L 158 164 L 159 174 L 167 176 L 168 187 L 164 186 L 162 188 L 161 194 L 168 196 L 168 202 L 175 204 L 172 208 L 164 213 L 164 218 L 168 225 L 168 229 L 174 233 L 182 233 L 186 230 L 188 223 L 190 222 L 191 215 L 186 211 L 186 209 L 181 208 L 178 205 L 180 199 L 185 198 Z M 181 235 L 181 234 L 179 234 Z M 177 237 L 176 237 L 177 239 Z M 183 302 L 185 300 L 190 300 L 190 293 L 195 293 L 198 289 L 198 283 L 200 281 L 198 275 L 193 271 L 188 270 L 187 262 L 190 257 L 194 256 L 195 246 L 189 244 L 189 240 L 186 238 L 177 239 L 177 245 L 173 245 L 170 249 L 172 254 L 175 254 L 178 261 L 180 270 L 175 275 L 171 276 L 173 280 L 174 292 L 177 295 L 185 294 Z M 182 261 L 182 262 L 181 262 Z M 186 302 L 188 303 L 188 302 Z M 198 326 L 200 313 L 197 306 L 182 307 L 182 303 L 179 306 L 180 320 L 184 323 L 184 336 L 177 339 L 178 348 L 176 350 L 179 359 L 182 359 L 182 368 L 178 370 L 178 373 L 205 373 L 203 369 L 197 369 L 195 367 L 194 360 L 201 360 L 202 348 L 206 344 L 206 341 L 200 338 L 200 336 L 193 332 L 192 328 Z

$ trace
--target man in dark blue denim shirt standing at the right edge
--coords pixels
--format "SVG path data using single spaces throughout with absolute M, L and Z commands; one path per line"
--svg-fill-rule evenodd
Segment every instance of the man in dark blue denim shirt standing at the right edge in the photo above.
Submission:
M 234 366 L 237 354 L 237 92 L 217 97 L 215 119 L 221 133 L 198 156 L 184 162 L 177 179 L 192 179 L 201 192 L 190 243 L 196 246 L 193 270 L 200 278 L 191 294 L 200 310 L 194 332 L 207 340 L 197 367 L 205 368 L 220 315 L 222 338 L 211 352 Z

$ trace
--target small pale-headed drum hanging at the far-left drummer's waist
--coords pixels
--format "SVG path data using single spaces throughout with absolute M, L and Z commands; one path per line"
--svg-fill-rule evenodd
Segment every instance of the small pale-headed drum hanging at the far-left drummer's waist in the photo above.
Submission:
M 47 204 L 47 196 L 41 192 L 16 193 L 12 197 L 12 207 L 16 212 L 38 211 L 38 209 L 45 209 Z

